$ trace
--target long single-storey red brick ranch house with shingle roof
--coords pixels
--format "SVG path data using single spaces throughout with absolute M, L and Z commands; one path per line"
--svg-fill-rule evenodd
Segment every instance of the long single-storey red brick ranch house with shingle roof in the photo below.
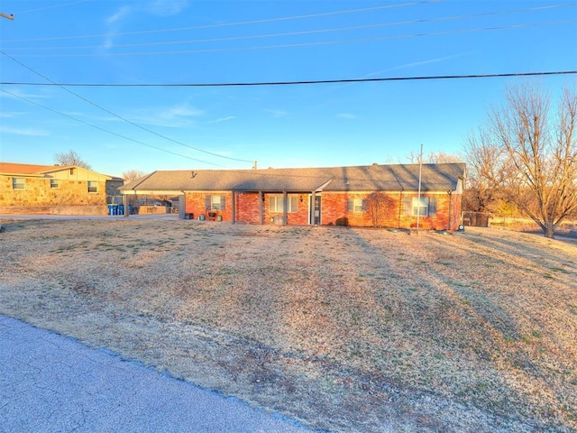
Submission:
M 123 195 L 178 195 L 181 217 L 247 224 L 389 226 L 454 230 L 464 163 L 154 171 Z M 375 203 L 380 203 L 375 206 Z M 184 206 L 182 205 L 184 203 Z

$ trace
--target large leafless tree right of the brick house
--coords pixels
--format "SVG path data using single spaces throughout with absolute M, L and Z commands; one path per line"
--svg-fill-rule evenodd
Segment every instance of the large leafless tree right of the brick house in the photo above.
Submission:
M 550 97 L 528 85 L 509 88 L 506 100 L 468 138 L 470 165 L 553 238 L 577 208 L 577 94 L 565 88 L 556 113 Z

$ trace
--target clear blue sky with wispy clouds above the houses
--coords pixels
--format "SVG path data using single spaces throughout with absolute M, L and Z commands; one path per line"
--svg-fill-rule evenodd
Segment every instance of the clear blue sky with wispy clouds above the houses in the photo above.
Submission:
M 0 161 L 94 170 L 370 165 L 463 151 L 521 79 L 208 84 L 577 69 L 577 2 L 3 0 Z M 41 86 L 24 85 L 39 83 Z

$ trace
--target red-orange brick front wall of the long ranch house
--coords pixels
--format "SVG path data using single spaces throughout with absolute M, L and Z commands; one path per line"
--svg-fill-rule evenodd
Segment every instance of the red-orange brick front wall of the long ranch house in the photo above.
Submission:
M 219 211 L 218 215 L 223 221 L 232 221 L 233 219 L 233 194 L 231 191 L 206 192 L 188 192 L 185 194 L 186 213 L 194 214 L 197 218 L 199 215 L 206 215 L 206 196 L 210 194 L 224 197 L 224 210 Z M 362 211 L 347 210 L 347 201 L 358 198 L 359 201 L 366 200 L 371 193 L 369 192 L 325 192 L 320 194 L 321 197 L 321 225 L 336 225 L 340 218 L 347 218 L 349 226 L 375 226 L 371 213 L 364 209 Z M 279 194 L 274 194 L 279 196 Z M 390 207 L 386 214 L 377 221 L 377 226 L 411 228 L 417 226 L 417 217 L 411 215 L 412 209 L 406 211 L 406 203 L 410 198 L 417 198 L 417 193 L 387 193 Z M 270 194 L 263 194 L 262 203 L 263 224 L 273 224 L 274 217 L 282 217 L 282 212 L 271 212 L 269 207 Z M 289 225 L 307 225 L 309 224 L 309 201 L 310 194 L 289 194 L 290 197 L 296 197 L 296 212 L 287 213 L 287 224 Z M 422 198 L 435 200 L 435 216 L 419 217 L 419 228 L 424 230 L 447 230 L 449 229 L 449 219 L 451 219 L 451 229 L 454 230 L 461 221 L 461 195 L 454 194 L 449 196 L 447 193 L 423 193 Z M 302 198 L 302 201 L 300 201 Z M 450 200 L 451 198 L 451 200 Z M 235 220 L 247 224 L 260 223 L 260 206 L 258 193 L 235 193 Z M 451 202 L 450 202 L 451 201 Z M 451 217 L 449 217 L 449 210 Z

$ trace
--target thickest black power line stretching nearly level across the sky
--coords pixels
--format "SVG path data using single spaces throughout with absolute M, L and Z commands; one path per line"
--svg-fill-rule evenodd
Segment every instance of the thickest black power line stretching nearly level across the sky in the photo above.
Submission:
M 0 51 L 1 52 L 1 51 Z M 225 88 L 242 86 L 298 86 L 316 84 L 339 84 L 339 83 L 367 83 L 381 81 L 417 81 L 428 79 L 466 79 L 466 78 L 508 78 L 508 77 L 543 77 L 551 75 L 572 75 L 576 70 L 556 70 L 543 72 L 508 72 L 494 74 L 468 74 L 468 75 L 431 75 L 420 77 L 389 77 L 389 78 L 342 78 L 342 79 L 313 79 L 304 81 L 252 81 L 233 83 L 177 83 L 177 84 L 104 84 L 104 83 L 31 83 L 3 81 L 3 86 L 59 86 L 59 87 L 87 87 L 87 88 Z M 239 160 L 243 161 L 243 160 Z M 250 162 L 250 161 L 243 161 Z

